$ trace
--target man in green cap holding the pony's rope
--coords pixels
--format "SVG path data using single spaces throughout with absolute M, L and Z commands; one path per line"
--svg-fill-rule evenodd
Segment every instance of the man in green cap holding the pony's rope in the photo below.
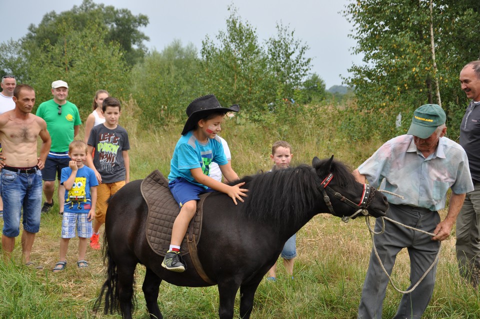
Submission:
M 402 195 L 387 194 L 387 216 L 408 226 L 433 233 L 407 229 L 385 221 L 385 230 L 374 236 L 381 263 L 391 273 L 396 254 L 407 248 L 410 256 L 410 281 L 413 286 L 434 262 L 440 241 L 451 232 L 465 193 L 473 189 L 466 153 L 460 145 L 444 137 L 445 112 L 436 104 L 418 107 L 406 135 L 385 142 L 353 171 L 359 182 L 368 182 Z M 446 217 L 440 221 L 437 210 L 445 207 L 448 188 L 451 196 Z M 381 229 L 381 220 L 375 230 Z M 404 294 L 393 318 L 420 318 L 430 301 L 435 283 L 436 264 L 421 283 Z M 381 318 L 387 275 L 371 253 L 363 283 L 358 318 Z M 410 288 L 411 288 L 410 286 Z

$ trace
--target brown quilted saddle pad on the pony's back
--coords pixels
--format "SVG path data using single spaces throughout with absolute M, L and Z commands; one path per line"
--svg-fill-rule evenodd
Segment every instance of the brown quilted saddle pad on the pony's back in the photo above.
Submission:
M 168 188 L 168 180 L 158 169 L 146 176 L 140 186 L 141 194 L 148 205 L 146 221 L 146 240 L 153 251 L 164 256 L 170 245 L 173 221 L 180 212 L 178 203 Z M 200 195 L 196 213 L 188 225 L 188 230 L 180 245 L 181 254 L 188 253 L 187 238 L 194 235 L 196 243 L 200 240 L 203 200 L 209 193 Z

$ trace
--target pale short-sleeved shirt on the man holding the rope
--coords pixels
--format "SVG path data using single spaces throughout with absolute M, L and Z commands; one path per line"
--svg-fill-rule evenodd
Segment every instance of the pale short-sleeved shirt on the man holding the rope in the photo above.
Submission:
M 404 196 L 385 194 L 392 204 L 438 210 L 445 207 L 448 188 L 456 194 L 473 190 L 468 159 L 461 146 L 440 137 L 435 151 L 424 157 L 413 135 L 394 137 L 378 148 L 359 167 L 373 187 Z

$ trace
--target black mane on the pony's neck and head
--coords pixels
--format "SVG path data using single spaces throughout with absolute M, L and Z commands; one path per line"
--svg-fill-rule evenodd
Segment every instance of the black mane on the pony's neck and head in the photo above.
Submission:
M 320 173 L 323 173 L 321 167 L 328 160 L 321 160 L 316 165 Z M 341 185 L 354 181 L 350 169 L 341 162 L 332 161 L 331 167 L 325 167 L 325 176 L 321 175 L 321 178 L 329 172 L 334 174 L 336 182 Z M 245 186 L 248 187 L 248 197 L 242 205 L 242 213 L 278 226 L 284 226 L 291 217 L 295 221 L 301 219 L 305 211 L 311 210 L 321 196 L 317 188 L 321 183 L 320 177 L 312 166 L 306 164 L 261 172 L 243 177 L 240 181 L 245 181 Z M 289 218 L 285 218 L 287 215 Z

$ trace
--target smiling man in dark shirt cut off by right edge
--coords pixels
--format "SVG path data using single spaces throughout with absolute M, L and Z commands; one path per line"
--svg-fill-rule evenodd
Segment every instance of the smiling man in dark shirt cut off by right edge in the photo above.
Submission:
M 467 193 L 456 218 L 456 258 L 460 274 L 474 287 L 480 280 L 480 61 L 460 71 L 461 89 L 471 99 L 460 125 L 474 190 Z

